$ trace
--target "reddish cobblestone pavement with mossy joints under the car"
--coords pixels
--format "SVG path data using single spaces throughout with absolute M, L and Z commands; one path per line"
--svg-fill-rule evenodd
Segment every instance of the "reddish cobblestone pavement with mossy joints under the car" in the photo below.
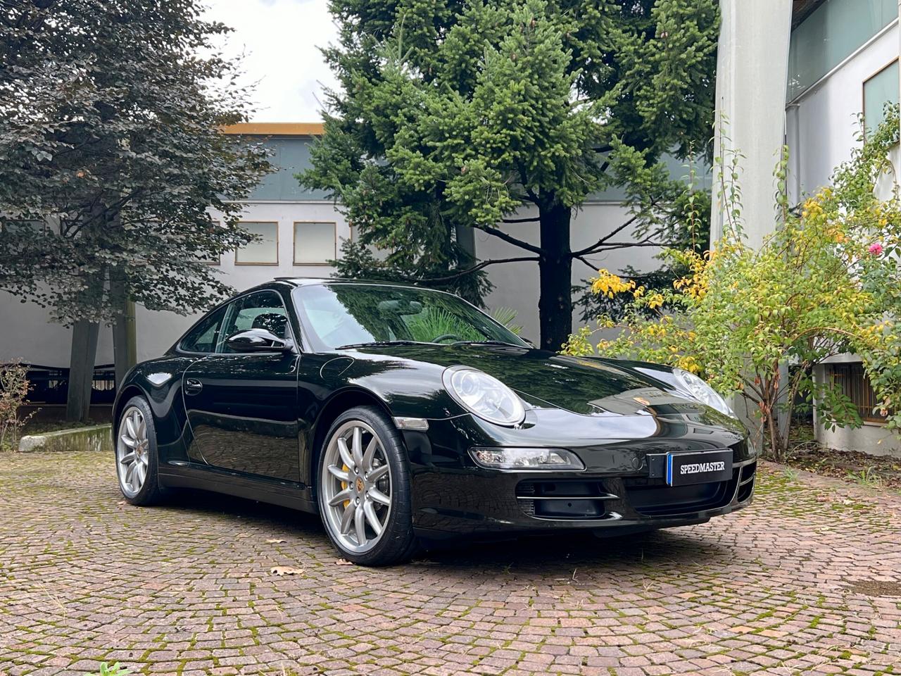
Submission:
M 368 570 L 287 509 L 130 507 L 110 460 L 0 455 L 0 673 L 901 672 L 896 495 L 765 465 L 707 525 Z

